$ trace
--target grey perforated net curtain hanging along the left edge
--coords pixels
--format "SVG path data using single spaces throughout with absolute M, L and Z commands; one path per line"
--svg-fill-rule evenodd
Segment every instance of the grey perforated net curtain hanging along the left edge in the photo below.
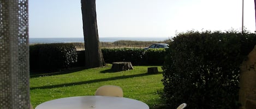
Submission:
M 0 0 L 0 108 L 30 108 L 28 1 Z

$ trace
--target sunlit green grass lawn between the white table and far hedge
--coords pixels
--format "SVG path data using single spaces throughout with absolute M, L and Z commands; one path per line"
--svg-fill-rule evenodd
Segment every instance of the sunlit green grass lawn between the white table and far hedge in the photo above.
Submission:
M 111 65 L 105 67 L 64 72 L 55 75 L 31 76 L 30 95 L 35 107 L 52 99 L 82 95 L 94 95 L 103 85 L 122 87 L 124 97 L 140 100 L 150 108 L 163 104 L 159 91 L 163 91 L 162 68 L 158 74 L 147 74 L 152 66 L 133 66 L 133 70 L 112 72 Z

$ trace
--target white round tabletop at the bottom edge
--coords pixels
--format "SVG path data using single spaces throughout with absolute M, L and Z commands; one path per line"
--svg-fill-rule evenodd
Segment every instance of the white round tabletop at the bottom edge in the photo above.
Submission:
M 79 96 L 50 100 L 35 109 L 149 109 L 142 101 L 106 96 Z

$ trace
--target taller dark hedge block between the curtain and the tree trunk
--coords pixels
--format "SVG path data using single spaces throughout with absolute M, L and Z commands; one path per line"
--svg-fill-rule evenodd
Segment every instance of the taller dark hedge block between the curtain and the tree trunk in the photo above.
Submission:
M 76 49 L 70 43 L 34 44 L 29 46 L 31 70 L 56 71 L 74 66 Z

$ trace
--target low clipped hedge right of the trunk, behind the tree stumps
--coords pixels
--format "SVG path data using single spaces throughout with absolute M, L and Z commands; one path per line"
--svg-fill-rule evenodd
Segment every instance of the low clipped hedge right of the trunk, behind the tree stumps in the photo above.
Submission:
M 133 65 L 162 65 L 165 57 L 165 49 L 104 48 L 102 53 L 106 63 L 126 61 Z

